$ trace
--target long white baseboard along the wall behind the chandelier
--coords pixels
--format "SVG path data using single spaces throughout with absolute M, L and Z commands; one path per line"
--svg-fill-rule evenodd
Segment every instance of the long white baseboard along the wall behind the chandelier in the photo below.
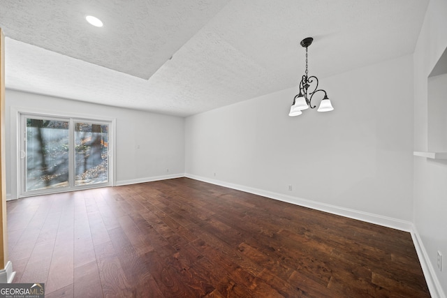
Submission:
M 193 174 L 186 173 L 184 177 L 207 182 L 210 184 L 216 184 L 228 188 L 236 189 L 237 191 L 244 191 L 246 193 L 253 193 L 255 195 L 262 195 L 263 197 L 288 202 L 302 207 L 308 207 L 319 211 L 328 212 L 330 214 L 336 214 L 339 216 L 345 216 L 348 218 L 357 219 L 359 221 L 365 221 L 367 223 L 374 223 L 376 225 L 382 225 L 387 228 L 393 228 L 396 230 L 402 230 L 405 232 L 411 232 L 413 230 L 413 224 L 410 221 L 402 221 L 397 218 L 390 218 L 388 216 L 381 216 L 378 214 L 371 214 L 364 211 L 358 211 L 354 209 L 338 207 L 331 204 L 325 204 L 321 202 L 315 202 L 312 200 L 306 200 L 303 198 L 293 197 L 291 195 L 283 195 L 281 193 L 273 193 L 271 191 L 265 191 L 258 188 L 251 188 L 249 186 L 242 186 L 239 184 L 230 184 L 225 181 L 219 181 L 215 179 L 209 179 L 206 177 L 200 177 Z

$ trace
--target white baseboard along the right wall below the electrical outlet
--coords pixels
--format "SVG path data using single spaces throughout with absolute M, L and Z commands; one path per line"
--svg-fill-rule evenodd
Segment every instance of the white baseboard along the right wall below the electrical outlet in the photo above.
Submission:
M 444 290 L 442 290 L 441 283 L 439 283 L 439 279 L 437 278 L 436 271 L 434 270 L 432 262 L 430 262 L 430 258 L 428 258 L 428 254 L 425 250 L 423 241 L 422 239 L 420 239 L 418 230 L 416 230 L 416 227 L 414 225 L 413 230 L 411 231 L 411 238 L 413 239 L 416 253 L 418 253 L 420 267 L 422 267 L 428 290 L 430 290 L 430 295 L 432 295 L 433 298 L 446 298 Z

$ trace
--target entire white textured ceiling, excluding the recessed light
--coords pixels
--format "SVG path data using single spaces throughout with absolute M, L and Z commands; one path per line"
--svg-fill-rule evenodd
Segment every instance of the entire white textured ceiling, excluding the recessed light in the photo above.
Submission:
M 320 80 L 411 54 L 427 4 L 0 0 L 6 88 L 186 117 L 297 86 L 308 36 Z

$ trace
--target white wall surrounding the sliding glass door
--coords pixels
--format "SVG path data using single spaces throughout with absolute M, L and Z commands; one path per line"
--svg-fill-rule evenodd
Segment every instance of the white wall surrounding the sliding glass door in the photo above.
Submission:
M 6 90 L 6 191 L 17 198 L 17 117 L 13 110 L 116 119 L 116 184 L 184 175 L 184 118 Z M 137 149 L 137 146 L 140 149 Z M 169 170 L 169 172 L 167 171 Z

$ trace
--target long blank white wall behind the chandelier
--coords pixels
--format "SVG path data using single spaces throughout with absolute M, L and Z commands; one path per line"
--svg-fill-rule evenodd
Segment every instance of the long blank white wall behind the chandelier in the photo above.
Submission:
M 412 74 L 409 55 L 320 78 L 332 112 L 288 117 L 292 88 L 188 117 L 186 174 L 408 230 Z

